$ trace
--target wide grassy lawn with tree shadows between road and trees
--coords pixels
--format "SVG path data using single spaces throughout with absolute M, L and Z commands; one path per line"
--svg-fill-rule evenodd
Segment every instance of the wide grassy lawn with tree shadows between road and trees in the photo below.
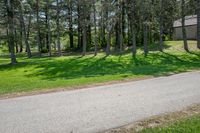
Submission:
M 195 46 L 190 42 L 190 46 Z M 0 57 L 0 95 L 61 87 L 75 87 L 123 79 L 134 79 L 180 73 L 200 69 L 200 51 L 186 53 L 181 42 L 166 42 L 166 52 L 152 50 L 147 57 L 139 52 L 32 58 L 18 57 L 19 64 L 8 65 L 8 57 Z M 154 47 L 152 46 L 152 49 Z

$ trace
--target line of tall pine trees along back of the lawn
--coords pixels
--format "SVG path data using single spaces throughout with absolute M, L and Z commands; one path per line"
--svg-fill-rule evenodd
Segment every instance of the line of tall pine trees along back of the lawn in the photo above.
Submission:
M 0 41 L 8 46 L 11 63 L 16 53 L 31 58 L 63 51 L 111 51 L 132 55 L 137 47 L 172 39 L 173 22 L 182 18 L 184 49 L 189 51 L 185 16 L 197 14 L 197 47 L 200 48 L 200 0 L 2 0 Z

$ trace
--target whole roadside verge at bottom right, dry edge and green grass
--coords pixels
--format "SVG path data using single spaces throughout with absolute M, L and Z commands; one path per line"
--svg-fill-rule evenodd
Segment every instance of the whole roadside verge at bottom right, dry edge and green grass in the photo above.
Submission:
M 199 133 L 200 105 L 142 120 L 105 133 Z

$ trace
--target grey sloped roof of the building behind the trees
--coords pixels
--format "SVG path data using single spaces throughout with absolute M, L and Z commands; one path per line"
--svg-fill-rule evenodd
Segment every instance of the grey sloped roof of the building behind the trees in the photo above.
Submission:
M 181 27 L 182 26 L 181 21 L 182 19 L 174 21 L 173 27 L 174 28 Z M 185 26 L 191 26 L 191 25 L 197 25 L 197 15 L 191 15 L 185 17 Z

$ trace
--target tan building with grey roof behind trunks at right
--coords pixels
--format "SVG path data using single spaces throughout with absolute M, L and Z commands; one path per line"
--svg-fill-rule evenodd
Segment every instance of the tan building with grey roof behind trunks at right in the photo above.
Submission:
M 174 40 L 183 39 L 181 21 L 182 19 L 176 20 L 173 24 L 173 28 L 174 28 L 173 39 Z M 197 39 L 197 15 L 185 17 L 185 28 L 187 32 L 187 39 L 196 40 Z

